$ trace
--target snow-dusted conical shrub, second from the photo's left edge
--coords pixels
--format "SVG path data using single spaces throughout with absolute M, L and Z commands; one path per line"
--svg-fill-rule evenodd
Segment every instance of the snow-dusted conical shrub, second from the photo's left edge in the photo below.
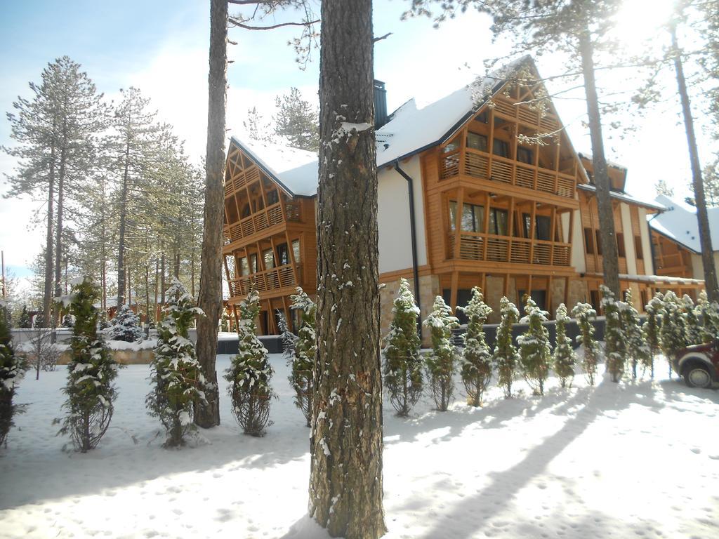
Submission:
M 75 449 L 86 453 L 97 446 L 110 425 L 117 390 L 112 383 L 118 364 L 97 331 L 99 288 L 88 277 L 73 280 L 70 314 L 75 317 L 70 341 L 70 364 L 63 404 L 67 415 L 61 434 L 72 438 Z

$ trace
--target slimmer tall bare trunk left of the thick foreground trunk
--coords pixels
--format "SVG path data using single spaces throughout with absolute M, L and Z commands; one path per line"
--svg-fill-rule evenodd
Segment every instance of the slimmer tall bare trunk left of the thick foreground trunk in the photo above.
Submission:
M 227 1 L 210 1 L 209 103 L 205 162 L 205 208 L 198 305 L 205 315 L 197 321 L 197 359 L 209 382 L 208 405 L 195 410 L 195 423 L 220 424 L 215 356 L 217 323 L 222 310 L 222 224 L 224 221 L 224 137 L 227 86 Z

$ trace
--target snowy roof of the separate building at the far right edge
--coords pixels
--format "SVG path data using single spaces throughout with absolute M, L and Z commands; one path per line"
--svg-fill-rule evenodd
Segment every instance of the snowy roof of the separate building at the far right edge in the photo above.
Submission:
M 649 226 L 652 229 L 677 241 L 695 253 L 702 252 L 699 241 L 699 221 L 697 208 L 673 201 L 665 195 L 656 197 L 656 201 L 667 209 L 661 215 L 652 218 Z M 712 250 L 719 251 L 719 208 L 707 208 L 709 216 L 709 233 L 712 236 Z

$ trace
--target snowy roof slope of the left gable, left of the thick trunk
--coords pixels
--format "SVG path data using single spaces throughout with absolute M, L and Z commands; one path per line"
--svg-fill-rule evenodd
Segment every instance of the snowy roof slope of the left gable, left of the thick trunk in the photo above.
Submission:
M 257 140 L 240 141 L 235 137 L 232 137 L 232 142 L 290 195 L 312 196 L 317 193 L 319 165 L 316 152 Z

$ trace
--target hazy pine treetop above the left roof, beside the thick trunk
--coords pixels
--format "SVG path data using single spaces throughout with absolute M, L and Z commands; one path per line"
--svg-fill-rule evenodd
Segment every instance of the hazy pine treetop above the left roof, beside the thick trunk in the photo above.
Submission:
M 275 135 L 283 137 L 293 148 L 316 152 L 319 149 L 319 116 L 317 110 L 302 98 L 297 88 L 275 98 L 279 109 L 275 117 Z

